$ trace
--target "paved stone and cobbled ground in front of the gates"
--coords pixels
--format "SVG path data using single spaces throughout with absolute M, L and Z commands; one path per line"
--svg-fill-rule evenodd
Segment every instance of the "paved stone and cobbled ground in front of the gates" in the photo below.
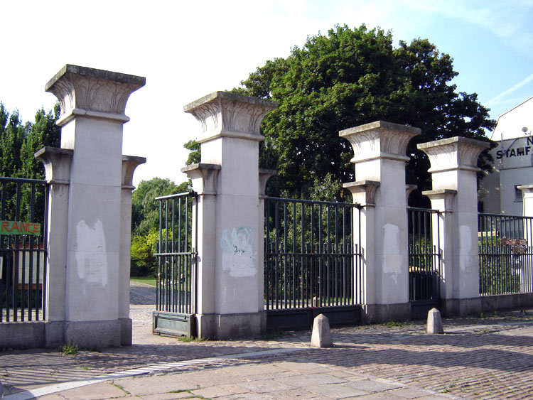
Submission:
M 0 352 L 6 398 L 533 398 L 533 310 L 444 320 L 445 335 L 426 335 L 421 322 L 336 328 L 335 347 L 316 349 L 310 332 L 204 342 L 154 336 L 153 306 L 132 293 L 133 346 L 76 356 Z

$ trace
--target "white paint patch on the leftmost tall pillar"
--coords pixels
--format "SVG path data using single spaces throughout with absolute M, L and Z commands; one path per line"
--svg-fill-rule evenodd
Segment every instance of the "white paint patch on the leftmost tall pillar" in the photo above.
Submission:
M 77 276 L 90 283 L 107 286 L 107 254 L 102 221 L 90 227 L 85 220 L 76 225 Z

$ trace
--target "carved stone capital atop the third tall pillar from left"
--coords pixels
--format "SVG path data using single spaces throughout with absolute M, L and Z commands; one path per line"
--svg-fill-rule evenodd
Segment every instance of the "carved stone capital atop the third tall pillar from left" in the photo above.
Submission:
M 421 130 L 412 126 L 375 121 L 370 124 L 355 126 L 339 132 L 339 136 L 350 141 L 354 157 L 352 163 L 376 158 L 389 158 L 407 161 L 405 156 L 407 144 L 419 135 Z

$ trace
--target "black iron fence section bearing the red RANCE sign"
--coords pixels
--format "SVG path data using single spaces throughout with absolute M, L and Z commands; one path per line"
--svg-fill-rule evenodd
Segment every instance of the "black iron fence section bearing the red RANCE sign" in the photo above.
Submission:
M 3 177 L 0 185 L 0 322 L 43 320 L 48 185 Z

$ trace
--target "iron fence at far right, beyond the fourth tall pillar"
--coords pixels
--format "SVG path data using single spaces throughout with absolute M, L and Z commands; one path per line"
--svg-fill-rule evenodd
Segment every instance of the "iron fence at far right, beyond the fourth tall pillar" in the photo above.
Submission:
M 478 215 L 480 295 L 533 291 L 533 218 Z

